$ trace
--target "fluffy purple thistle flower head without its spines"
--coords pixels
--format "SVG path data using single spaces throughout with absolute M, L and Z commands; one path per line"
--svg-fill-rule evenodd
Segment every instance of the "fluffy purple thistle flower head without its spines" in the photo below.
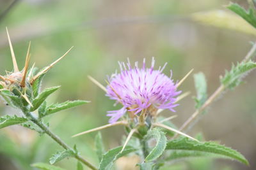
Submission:
M 135 62 L 134 68 L 131 67 L 129 60 L 126 65 L 124 62 L 118 63 L 120 73 L 115 73 L 109 78 L 106 96 L 122 103 L 124 107 L 120 110 L 108 111 L 107 116 L 111 117 L 109 123 L 115 123 L 126 111 L 136 115 L 150 106 L 175 111 L 173 108 L 179 105 L 174 104 L 175 96 L 181 91 L 177 92 L 177 85 L 171 79 L 172 71 L 170 77 L 162 73 L 166 64 L 163 68 L 154 70 L 154 57 L 150 68 L 145 68 L 145 59 L 141 69 L 138 67 L 138 62 Z

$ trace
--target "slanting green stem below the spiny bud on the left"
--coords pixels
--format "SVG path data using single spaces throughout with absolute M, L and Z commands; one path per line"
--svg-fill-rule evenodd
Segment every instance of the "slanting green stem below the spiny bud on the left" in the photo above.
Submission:
M 56 141 L 56 143 L 62 146 L 65 150 L 71 150 L 74 154 L 74 157 L 77 160 L 81 161 L 85 166 L 88 166 L 93 170 L 97 170 L 95 166 L 88 162 L 88 160 L 81 157 L 77 152 L 73 150 L 73 148 L 68 146 L 64 141 L 62 141 L 58 136 L 56 136 L 56 134 L 52 133 L 52 131 L 44 123 L 35 118 L 30 112 L 23 111 L 23 113 L 26 115 L 26 117 L 29 117 L 34 124 L 38 125 L 38 127 L 40 127 L 48 136 L 50 136 L 54 141 Z

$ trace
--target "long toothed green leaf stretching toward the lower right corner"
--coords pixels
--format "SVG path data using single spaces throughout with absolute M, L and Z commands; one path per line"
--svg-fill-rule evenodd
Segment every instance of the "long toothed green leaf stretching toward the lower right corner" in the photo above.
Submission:
M 238 160 L 239 162 L 242 162 L 246 165 L 249 164 L 248 160 L 246 160 L 241 153 L 237 152 L 236 150 L 233 150 L 232 148 L 228 148 L 226 146 L 220 145 L 212 141 L 198 142 L 188 138 L 181 137 L 179 139 L 169 141 L 168 144 L 166 145 L 166 150 L 190 150 L 215 153 L 226 156 L 229 159 Z

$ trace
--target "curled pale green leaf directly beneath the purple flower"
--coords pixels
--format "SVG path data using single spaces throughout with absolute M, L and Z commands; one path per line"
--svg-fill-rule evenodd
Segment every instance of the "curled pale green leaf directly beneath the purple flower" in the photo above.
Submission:
M 158 157 L 160 157 L 164 149 L 166 147 L 166 137 L 164 132 L 162 132 L 159 128 L 154 128 L 151 131 L 148 131 L 147 135 L 145 136 L 144 140 L 148 141 L 150 138 L 156 139 L 156 146 L 151 150 L 151 152 L 145 158 L 145 162 L 150 162 Z

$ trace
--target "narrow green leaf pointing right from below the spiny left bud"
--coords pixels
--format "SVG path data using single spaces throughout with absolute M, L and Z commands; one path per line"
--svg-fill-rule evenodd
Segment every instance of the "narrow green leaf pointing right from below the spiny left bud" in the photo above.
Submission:
M 48 106 L 45 109 L 44 117 L 47 115 L 51 115 L 52 113 L 61 111 L 61 110 L 67 110 L 68 108 L 73 108 L 73 107 L 76 107 L 76 106 L 79 106 L 82 104 L 86 104 L 86 103 L 89 103 L 89 101 L 77 100 L 77 101 L 66 101 L 66 102 L 60 103 L 60 104 L 58 104 L 58 103 L 52 104 L 51 106 Z

